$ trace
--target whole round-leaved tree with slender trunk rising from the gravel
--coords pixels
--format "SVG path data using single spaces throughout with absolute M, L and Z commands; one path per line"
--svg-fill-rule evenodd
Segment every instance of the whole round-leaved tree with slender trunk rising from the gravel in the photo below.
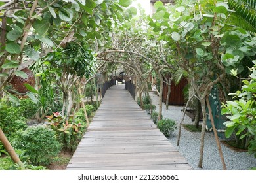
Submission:
M 237 68 L 244 56 L 255 54 L 255 41 L 251 35 L 244 29 L 234 29 L 226 24 L 231 12 L 227 3 L 207 1 L 202 7 L 203 3 L 190 1 L 170 7 L 168 11 L 163 3 L 157 2 L 154 5 L 156 14 L 150 22 L 173 50 L 173 58 L 180 68 L 178 71 L 188 78 L 194 90 L 192 95 L 200 100 L 203 125 L 199 167 L 203 161 L 205 99 L 226 72 Z

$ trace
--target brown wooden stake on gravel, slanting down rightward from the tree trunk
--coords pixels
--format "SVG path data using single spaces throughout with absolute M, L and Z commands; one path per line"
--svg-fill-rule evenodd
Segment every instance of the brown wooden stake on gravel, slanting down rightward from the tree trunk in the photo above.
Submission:
M 211 118 L 211 125 L 213 126 L 213 133 L 214 133 L 214 136 L 215 136 L 215 141 L 216 141 L 216 144 L 217 144 L 217 147 L 218 147 L 218 150 L 219 150 L 219 156 L 221 157 L 221 163 L 223 164 L 223 170 L 226 170 L 226 164 L 225 164 L 225 161 L 224 161 L 223 152 L 221 150 L 221 144 L 219 142 L 219 137 L 217 135 L 217 130 L 216 130 L 215 125 L 214 125 L 213 114 L 211 113 L 211 106 L 210 106 L 210 103 L 209 103 L 209 96 L 206 96 L 206 103 L 207 103 L 207 107 L 208 107 L 208 110 L 209 110 L 209 115 L 210 115 L 210 118 Z

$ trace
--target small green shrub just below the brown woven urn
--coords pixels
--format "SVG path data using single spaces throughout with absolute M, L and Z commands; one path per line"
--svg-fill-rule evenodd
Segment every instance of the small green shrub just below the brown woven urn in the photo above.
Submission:
M 22 112 L 22 116 L 25 118 L 32 118 L 35 116 L 35 113 L 38 110 L 38 105 L 33 103 L 32 99 L 20 99 L 20 110 Z

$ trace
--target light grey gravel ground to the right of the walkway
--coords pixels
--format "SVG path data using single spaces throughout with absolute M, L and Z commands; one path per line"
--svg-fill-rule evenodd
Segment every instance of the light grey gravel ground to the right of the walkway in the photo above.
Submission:
M 156 105 L 158 111 L 158 96 L 150 93 L 152 103 Z M 179 126 L 182 118 L 183 107 L 169 106 L 165 109 L 163 103 L 163 118 L 172 118 Z M 194 124 L 188 116 L 185 116 L 183 124 Z M 182 127 L 180 145 L 177 146 L 178 130 L 175 130 L 169 141 L 179 150 L 179 152 L 186 158 L 192 169 L 200 170 L 198 168 L 199 152 L 200 152 L 200 133 L 189 132 Z M 256 167 L 256 159 L 250 156 L 247 152 L 236 152 L 223 144 L 221 144 L 224 161 L 228 170 L 248 170 L 251 167 Z M 213 133 L 206 133 L 205 147 L 203 152 L 203 170 L 222 170 L 222 163 L 219 157 L 219 151 L 215 142 Z

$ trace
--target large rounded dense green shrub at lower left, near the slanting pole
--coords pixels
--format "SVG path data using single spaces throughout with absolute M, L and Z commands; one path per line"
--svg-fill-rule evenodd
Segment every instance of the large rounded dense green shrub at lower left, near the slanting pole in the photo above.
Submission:
M 25 131 L 18 131 L 12 145 L 16 149 L 28 150 L 33 165 L 49 165 L 61 148 L 54 131 L 47 127 L 28 127 Z

